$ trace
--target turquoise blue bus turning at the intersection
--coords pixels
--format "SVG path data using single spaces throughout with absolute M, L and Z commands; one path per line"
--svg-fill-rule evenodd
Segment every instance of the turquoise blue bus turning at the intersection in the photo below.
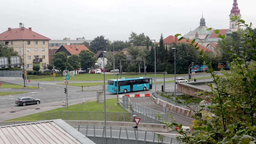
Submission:
M 108 92 L 117 93 L 116 79 L 108 80 Z M 152 89 L 152 78 L 121 78 L 118 79 L 118 93 L 146 91 Z

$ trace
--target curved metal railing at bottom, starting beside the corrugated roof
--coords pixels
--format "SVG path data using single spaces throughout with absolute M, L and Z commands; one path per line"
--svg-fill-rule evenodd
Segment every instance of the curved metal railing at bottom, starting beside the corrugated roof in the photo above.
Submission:
M 180 144 L 181 141 L 135 128 L 70 124 L 96 144 Z

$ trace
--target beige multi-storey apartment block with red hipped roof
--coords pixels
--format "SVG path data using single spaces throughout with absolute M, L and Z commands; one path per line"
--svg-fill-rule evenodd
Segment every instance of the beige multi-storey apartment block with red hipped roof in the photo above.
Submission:
M 28 70 L 32 70 L 35 65 L 42 68 L 49 64 L 49 40 L 51 39 L 32 31 L 32 28 L 27 29 L 22 26 L 21 28 L 8 28 L 0 34 L 0 42 L 19 52 Z

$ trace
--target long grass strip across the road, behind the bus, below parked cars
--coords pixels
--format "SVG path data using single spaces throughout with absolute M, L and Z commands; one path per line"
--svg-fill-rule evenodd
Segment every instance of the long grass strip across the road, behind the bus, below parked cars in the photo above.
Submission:
M 32 75 L 30 75 L 32 76 Z M 140 75 L 141 77 L 144 76 L 143 74 Z M 146 75 L 148 77 L 155 77 L 154 74 L 148 74 Z M 112 74 L 105 74 L 105 79 L 113 79 Z M 118 76 L 119 77 L 119 76 Z M 122 74 L 122 77 L 139 77 L 139 75 L 134 75 L 134 74 Z M 162 74 L 157 74 L 156 77 L 164 77 Z M 165 75 L 165 77 L 174 77 L 174 75 Z M 45 77 L 45 76 L 37 76 L 37 77 L 31 77 L 30 80 L 37 80 L 37 81 L 53 81 L 53 77 Z M 56 81 L 62 81 L 63 77 L 59 76 L 56 77 Z M 97 81 L 97 80 L 103 80 L 103 74 L 79 74 L 79 75 L 74 75 L 74 77 L 70 77 L 70 81 Z

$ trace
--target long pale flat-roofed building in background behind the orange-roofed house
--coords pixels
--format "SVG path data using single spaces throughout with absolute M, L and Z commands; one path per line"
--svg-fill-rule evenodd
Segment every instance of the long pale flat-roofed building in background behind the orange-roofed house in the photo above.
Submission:
M 63 38 L 63 40 L 50 40 L 49 49 L 59 49 L 61 45 L 81 45 L 84 42 L 91 43 L 92 40 L 85 40 L 84 38 L 76 38 L 76 40 L 70 40 L 70 38 Z

